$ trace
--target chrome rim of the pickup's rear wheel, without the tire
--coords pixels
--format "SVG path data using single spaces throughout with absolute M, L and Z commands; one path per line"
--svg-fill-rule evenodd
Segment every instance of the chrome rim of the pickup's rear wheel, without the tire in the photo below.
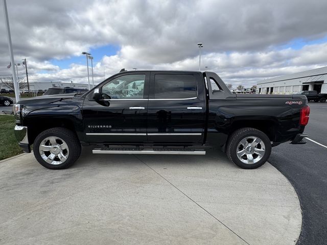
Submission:
M 263 158 L 266 147 L 262 139 L 255 136 L 245 137 L 237 146 L 236 154 L 245 164 L 254 164 Z

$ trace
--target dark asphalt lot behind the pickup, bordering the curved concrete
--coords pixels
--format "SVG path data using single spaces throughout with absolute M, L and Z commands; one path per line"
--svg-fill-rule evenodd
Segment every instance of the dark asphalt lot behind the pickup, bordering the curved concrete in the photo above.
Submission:
M 309 103 L 309 138 L 327 146 L 327 103 Z M 282 144 L 272 150 L 268 161 L 294 186 L 302 210 L 298 245 L 327 241 L 327 149 L 310 140 L 303 145 Z

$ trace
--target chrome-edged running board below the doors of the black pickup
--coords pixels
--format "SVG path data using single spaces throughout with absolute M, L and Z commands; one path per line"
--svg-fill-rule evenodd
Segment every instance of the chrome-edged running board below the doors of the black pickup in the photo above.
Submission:
M 205 155 L 205 151 L 190 151 L 183 149 L 115 149 L 115 148 L 95 148 L 92 150 L 93 154 L 151 154 L 151 155 Z

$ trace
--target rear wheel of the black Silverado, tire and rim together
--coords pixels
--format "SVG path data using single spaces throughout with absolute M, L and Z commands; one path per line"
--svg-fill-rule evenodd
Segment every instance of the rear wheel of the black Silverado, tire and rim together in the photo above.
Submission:
M 241 168 L 260 167 L 267 161 L 270 153 L 270 139 L 265 133 L 254 128 L 238 129 L 227 141 L 227 157 Z

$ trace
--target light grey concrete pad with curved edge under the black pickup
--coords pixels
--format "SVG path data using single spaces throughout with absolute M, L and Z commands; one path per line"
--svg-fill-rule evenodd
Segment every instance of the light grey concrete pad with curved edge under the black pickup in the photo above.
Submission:
M 1 244 L 295 244 L 297 195 L 269 163 L 205 156 L 92 155 L 49 170 L 0 162 Z

